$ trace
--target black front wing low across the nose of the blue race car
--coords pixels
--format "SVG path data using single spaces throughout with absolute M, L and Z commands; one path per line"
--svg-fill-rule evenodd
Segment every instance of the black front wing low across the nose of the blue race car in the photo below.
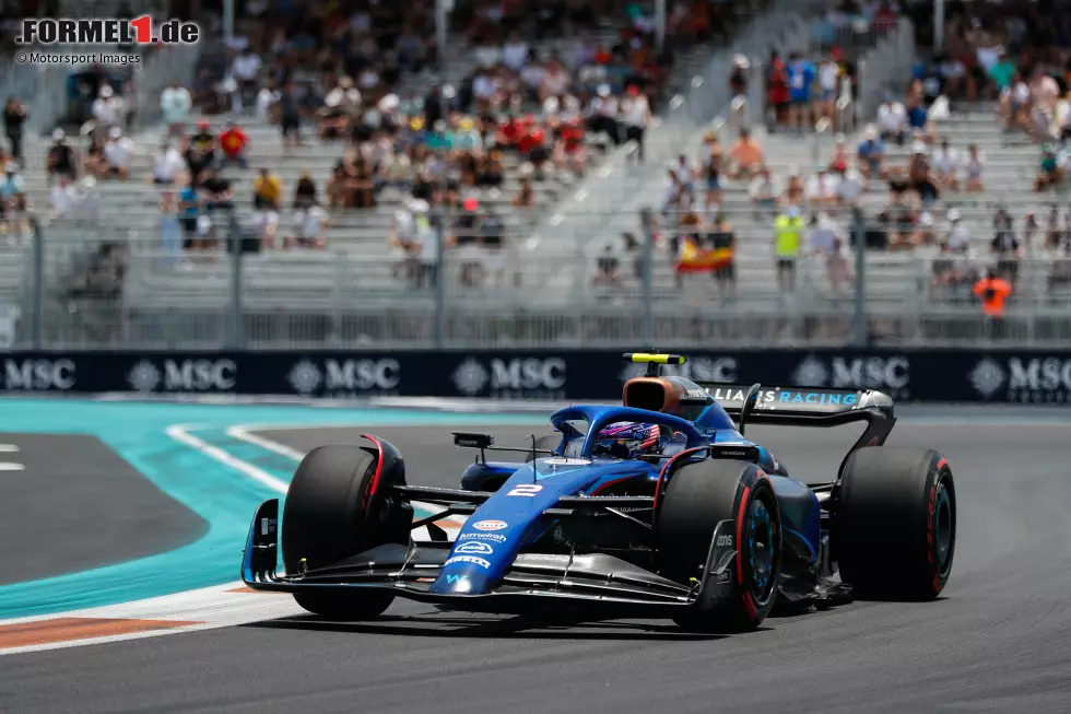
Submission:
M 337 563 L 301 573 L 280 574 L 278 564 L 279 501 L 257 510 L 242 562 L 242 580 L 257 590 L 301 593 L 356 588 L 389 590 L 399 597 L 450 609 L 525 612 L 543 606 L 598 606 L 628 612 L 710 609 L 732 596 L 737 551 L 717 546 L 718 535 L 732 534 L 734 522 L 722 520 L 710 539 L 706 574 L 685 586 L 605 553 L 579 555 L 520 553 L 499 582 L 485 594 L 439 594 L 429 590 L 452 543 L 388 543 Z M 732 542 L 722 538 L 720 542 Z

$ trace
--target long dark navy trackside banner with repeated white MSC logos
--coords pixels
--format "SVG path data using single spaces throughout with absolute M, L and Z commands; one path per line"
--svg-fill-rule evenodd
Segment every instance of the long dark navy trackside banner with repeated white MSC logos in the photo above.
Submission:
M 607 400 L 644 368 L 611 350 L 0 352 L 0 391 Z M 1071 402 L 1071 351 L 699 351 L 662 370 L 899 401 Z

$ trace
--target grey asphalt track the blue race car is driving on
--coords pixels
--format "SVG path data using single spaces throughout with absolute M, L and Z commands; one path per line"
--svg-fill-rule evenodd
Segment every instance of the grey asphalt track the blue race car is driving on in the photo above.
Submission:
M 469 428 L 471 429 L 471 428 Z M 529 429 L 494 429 L 522 442 Z M 382 429 L 410 482 L 452 485 L 471 458 L 446 429 Z M 306 450 L 352 431 L 266 434 Z M 851 434 L 754 429 L 821 479 Z M 854 602 L 698 635 L 661 621 L 548 623 L 396 601 L 379 621 L 287 618 L 11 655 L 0 710 L 233 712 L 1071 711 L 1071 430 L 902 420 L 958 494 L 953 575 L 935 602 Z M 270 597 L 270 596 L 269 596 Z

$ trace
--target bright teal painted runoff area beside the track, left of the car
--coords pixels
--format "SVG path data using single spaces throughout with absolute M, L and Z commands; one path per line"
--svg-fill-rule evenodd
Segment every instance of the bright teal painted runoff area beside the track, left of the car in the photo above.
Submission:
M 367 426 L 545 424 L 536 414 L 457 413 L 268 405 L 0 400 L 0 432 L 92 434 L 164 493 L 208 524 L 199 540 L 173 551 L 0 587 L 0 620 L 169 595 L 238 578 L 242 548 L 258 504 L 280 494 L 166 433 L 183 424 L 231 456 L 287 482 L 294 461 L 226 434 L 232 425 Z M 76 534 L 71 534 L 76 537 Z M 10 546 L 7 546 L 10 547 Z

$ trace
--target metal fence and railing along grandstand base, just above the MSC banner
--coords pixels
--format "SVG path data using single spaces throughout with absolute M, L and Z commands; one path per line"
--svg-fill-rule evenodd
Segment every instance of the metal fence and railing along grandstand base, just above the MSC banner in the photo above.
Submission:
M 14 347 L 843 346 L 858 341 L 856 306 L 875 344 L 1071 339 L 1071 251 L 1051 242 L 1019 257 L 990 255 L 984 243 L 956 254 L 871 249 L 859 262 L 849 251 L 836 268 L 861 268 L 864 280 L 847 283 L 833 280 L 828 256 L 803 254 L 789 289 L 770 236 L 748 231 L 737 235 L 731 276 L 679 274 L 670 236 L 650 250 L 542 259 L 462 245 L 427 264 L 344 242 L 191 251 L 62 221 L 14 238 L 0 249 L 0 321 L 16 316 L 5 338 Z M 246 235 L 245 247 L 254 244 Z M 990 267 L 1014 288 L 999 330 L 973 294 Z

